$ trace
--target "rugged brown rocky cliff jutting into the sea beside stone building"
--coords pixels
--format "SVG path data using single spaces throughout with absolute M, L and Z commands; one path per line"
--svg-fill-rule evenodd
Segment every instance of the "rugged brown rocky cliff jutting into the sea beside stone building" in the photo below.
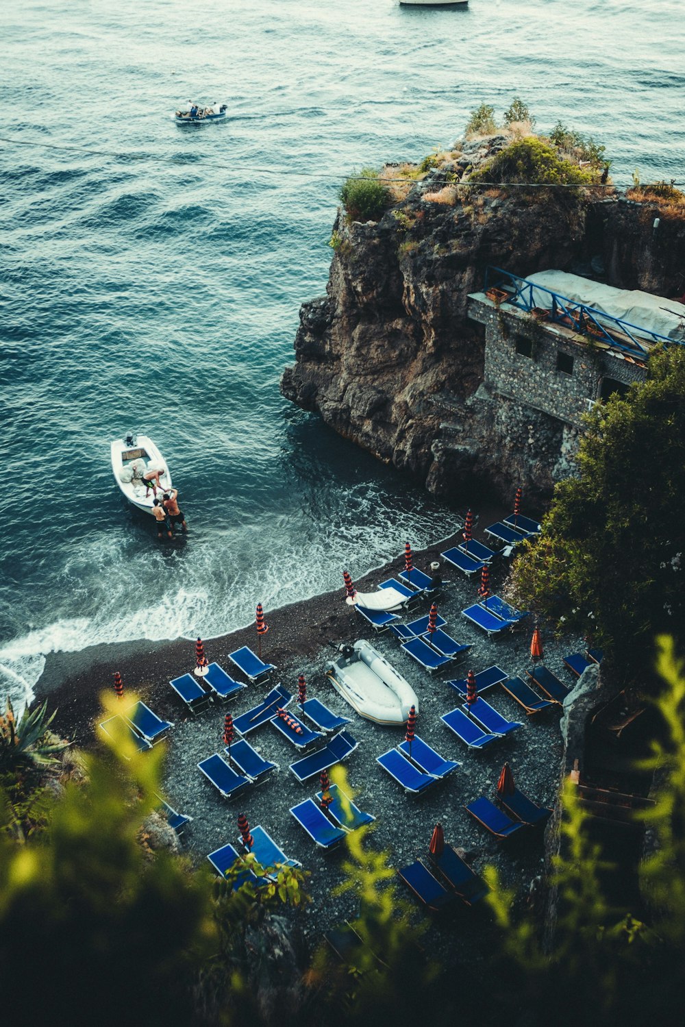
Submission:
M 281 379 L 284 396 L 445 497 L 475 479 L 542 499 L 577 442 L 561 420 L 484 394 L 483 330 L 466 308 L 489 265 L 661 296 L 685 289 L 685 221 L 654 203 L 615 190 L 464 185 L 509 142 L 460 142 L 424 175 L 384 168 L 393 202 L 377 222 L 338 213 L 327 295 L 303 304 Z

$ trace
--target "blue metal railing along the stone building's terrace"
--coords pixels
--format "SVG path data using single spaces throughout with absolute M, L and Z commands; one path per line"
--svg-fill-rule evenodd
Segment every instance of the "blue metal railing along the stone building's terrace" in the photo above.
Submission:
M 566 296 L 554 293 L 550 289 L 538 286 L 537 282 L 529 281 L 527 278 L 521 278 L 518 274 L 511 274 L 510 271 L 503 271 L 499 267 L 487 267 L 485 289 L 497 289 L 502 286 L 509 287 L 504 290 L 507 296 L 506 299 L 502 300 L 502 304 L 506 303 L 509 306 L 519 307 L 521 310 L 533 311 L 536 309 L 536 304 L 533 302 L 533 290 L 546 293 L 547 296 L 551 297 L 550 307 L 545 308 L 548 320 L 557 325 L 564 325 L 566 328 L 571 328 L 583 335 L 591 335 L 598 341 L 604 341 L 615 349 L 622 349 L 633 356 L 644 358 L 648 354 L 649 349 L 645 345 L 645 339 L 652 343 L 672 344 L 677 342 L 680 345 L 683 344 L 680 339 L 670 339 L 667 335 L 659 335 L 658 332 L 652 332 L 639 325 L 632 325 L 631 321 L 622 320 L 620 317 L 612 317 L 610 314 L 588 307 L 584 303 L 569 300 Z M 513 287 L 512 293 L 509 291 L 511 287 Z M 625 338 L 616 338 L 612 332 L 620 332 Z M 635 332 L 639 332 L 645 339 L 637 339 L 634 335 Z

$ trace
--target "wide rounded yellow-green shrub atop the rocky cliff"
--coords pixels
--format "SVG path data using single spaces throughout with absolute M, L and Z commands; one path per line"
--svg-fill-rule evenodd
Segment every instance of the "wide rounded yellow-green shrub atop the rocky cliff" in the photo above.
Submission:
M 469 182 L 511 182 L 519 184 L 583 185 L 596 175 L 560 157 L 554 146 L 534 137 L 515 140 L 486 161 Z

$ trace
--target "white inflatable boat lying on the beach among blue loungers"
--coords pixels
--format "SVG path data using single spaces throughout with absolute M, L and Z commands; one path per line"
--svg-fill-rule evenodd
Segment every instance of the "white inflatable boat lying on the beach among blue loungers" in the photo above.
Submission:
M 360 717 L 377 724 L 401 725 L 419 700 L 405 678 L 364 639 L 342 645 L 341 655 L 326 664 L 333 687 Z

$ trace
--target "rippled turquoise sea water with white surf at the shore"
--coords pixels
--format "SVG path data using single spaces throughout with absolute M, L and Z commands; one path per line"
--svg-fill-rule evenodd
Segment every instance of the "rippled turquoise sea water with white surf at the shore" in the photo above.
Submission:
M 210 637 L 260 601 L 268 621 L 450 532 L 278 393 L 346 174 L 520 96 L 541 129 L 604 142 L 617 181 L 685 179 L 680 0 L 28 0 L 0 40 L 0 694 L 20 698 L 50 650 Z M 189 98 L 228 122 L 179 129 Z M 187 544 L 119 497 L 129 428 L 169 462 Z

